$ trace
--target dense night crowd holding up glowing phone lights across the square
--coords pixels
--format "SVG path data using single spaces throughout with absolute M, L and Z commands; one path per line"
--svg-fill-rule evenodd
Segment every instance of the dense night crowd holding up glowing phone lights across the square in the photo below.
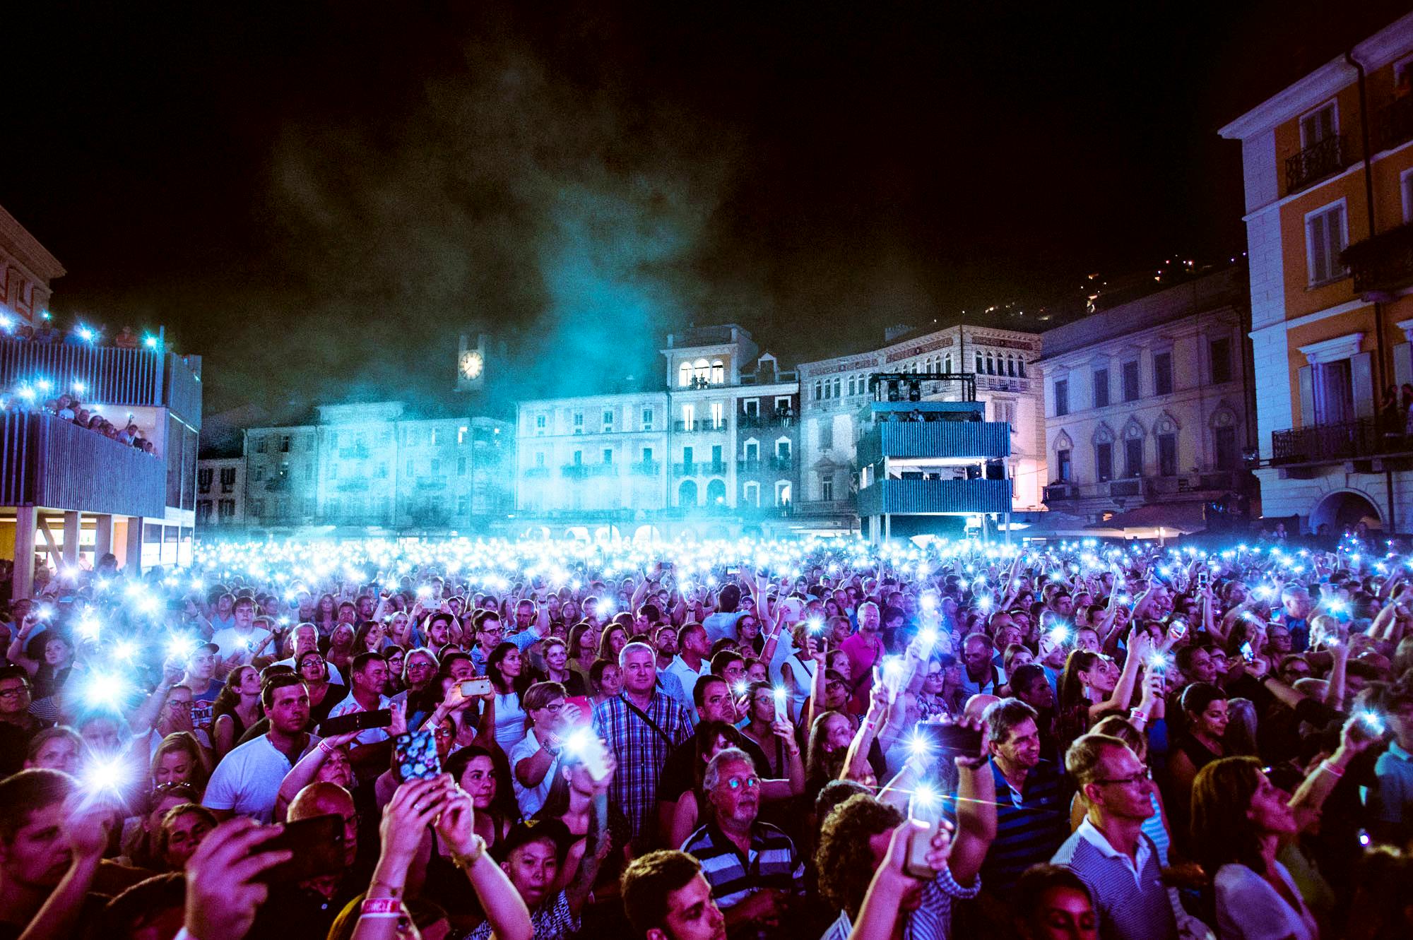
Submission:
M 1400 542 L 218 543 L 0 651 L 0 940 L 1413 936 Z

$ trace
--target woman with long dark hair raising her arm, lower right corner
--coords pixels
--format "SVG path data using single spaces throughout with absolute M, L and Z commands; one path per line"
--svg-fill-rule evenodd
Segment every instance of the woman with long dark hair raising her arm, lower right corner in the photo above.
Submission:
M 1369 747 L 1358 721 L 1345 723 L 1340 747 L 1294 796 L 1266 779 L 1253 757 L 1218 758 L 1197 773 L 1193 851 L 1212 879 L 1221 937 L 1318 940 L 1320 926 L 1276 852 L 1316 820 L 1349 761 Z

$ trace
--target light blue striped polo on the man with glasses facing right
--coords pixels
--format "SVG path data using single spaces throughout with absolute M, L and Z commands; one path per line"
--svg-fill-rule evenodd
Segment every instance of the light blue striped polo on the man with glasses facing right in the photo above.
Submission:
M 1105 940 L 1177 940 L 1157 850 L 1147 836 L 1139 834 L 1137 858 L 1129 858 L 1085 819 L 1050 861 L 1089 888 Z

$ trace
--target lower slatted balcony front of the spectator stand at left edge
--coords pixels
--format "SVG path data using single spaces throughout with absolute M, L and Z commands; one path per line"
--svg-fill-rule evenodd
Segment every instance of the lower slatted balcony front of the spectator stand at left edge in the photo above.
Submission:
M 0 415 L 0 505 L 161 518 L 165 498 L 161 459 L 57 415 Z

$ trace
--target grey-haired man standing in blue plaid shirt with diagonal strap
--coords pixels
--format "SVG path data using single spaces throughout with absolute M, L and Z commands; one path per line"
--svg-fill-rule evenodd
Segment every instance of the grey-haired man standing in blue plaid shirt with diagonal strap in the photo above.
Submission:
M 633 848 L 653 843 L 657 779 L 667 755 L 692 731 L 685 706 L 657 690 L 657 653 L 629 644 L 619 653 L 623 692 L 593 709 L 593 731 L 613 751 L 617 769 L 609 799 L 633 827 Z

